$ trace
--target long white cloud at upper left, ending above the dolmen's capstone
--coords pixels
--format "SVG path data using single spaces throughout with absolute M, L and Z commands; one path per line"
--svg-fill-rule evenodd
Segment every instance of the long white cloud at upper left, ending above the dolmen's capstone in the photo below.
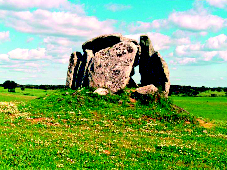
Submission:
M 71 37 L 77 40 L 87 40 L 91 37 L 114 32 L 113 21 L 99 21 L 96 17 L 79 16 L 72 12 L 50 12 L 47 10 L 9 12 L 4 11 L 0 19 L 7 26 L 17 31 L 57 36 Z

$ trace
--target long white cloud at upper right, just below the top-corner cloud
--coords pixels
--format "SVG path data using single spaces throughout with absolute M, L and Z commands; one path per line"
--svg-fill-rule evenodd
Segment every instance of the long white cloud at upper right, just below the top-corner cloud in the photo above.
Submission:
M 226 1 L 227 2 L 227 1 Z M 137 21 L 129 26 L 131 32 L 144 32 L 153 29 L 169 29 L 177 27 L 181 30 L 207 35 L 207 31 L 218 31 L 227 26 L 227 19 L 209 14 L 204 8 L 195 8 L 184 12 L 172 12 L 167 19 L 152 22 Z

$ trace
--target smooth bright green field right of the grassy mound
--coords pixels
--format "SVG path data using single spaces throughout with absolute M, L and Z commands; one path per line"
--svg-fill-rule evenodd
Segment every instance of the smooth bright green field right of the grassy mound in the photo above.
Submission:
M 197 117 L 227 121 L 227 97 L 171 97 Z

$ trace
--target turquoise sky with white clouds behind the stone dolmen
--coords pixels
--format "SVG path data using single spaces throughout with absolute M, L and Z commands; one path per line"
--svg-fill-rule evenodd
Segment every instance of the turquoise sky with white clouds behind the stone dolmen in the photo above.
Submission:
M 109 33 L 148 34 L 171 84 L 227 87 L 227 0 L 0 0 L 0 83 L 65 84 L 70 54 Z

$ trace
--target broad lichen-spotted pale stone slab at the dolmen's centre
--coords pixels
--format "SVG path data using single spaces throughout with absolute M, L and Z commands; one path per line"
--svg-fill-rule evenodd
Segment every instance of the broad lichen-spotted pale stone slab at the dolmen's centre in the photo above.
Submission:
M 132 42 L 120 42 L 95 53 L 90 67 L 90 87 L 104 87 L 112 92 L 125 88 L 136 54 L 137 46 Z

